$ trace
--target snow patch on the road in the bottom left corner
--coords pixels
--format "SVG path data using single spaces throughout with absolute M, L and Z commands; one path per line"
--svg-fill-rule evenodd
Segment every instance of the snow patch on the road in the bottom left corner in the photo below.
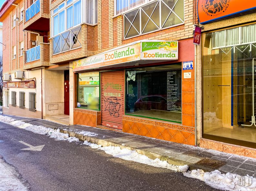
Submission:
M 13 169 L 0 159 L 0 190 L 26 191 L 27 188 L 12 173 Z

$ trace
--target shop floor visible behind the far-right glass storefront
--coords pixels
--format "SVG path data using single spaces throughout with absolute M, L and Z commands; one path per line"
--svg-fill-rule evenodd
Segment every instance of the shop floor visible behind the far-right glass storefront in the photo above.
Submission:
M 239 126 L 236 128 L 217 128 L 207 132 L 208 135 L 221 136 L 231 139 L 237 139 L 242 141 L 249 141 L 256 143 L 256 127 L 255 126 Z

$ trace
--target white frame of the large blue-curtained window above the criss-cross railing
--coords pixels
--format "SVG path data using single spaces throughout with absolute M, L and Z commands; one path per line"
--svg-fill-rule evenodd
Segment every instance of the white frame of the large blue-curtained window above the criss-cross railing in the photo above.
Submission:
M 58 8 L 60 5 L 62 5 L 62 4 L 60 4 L 60 5 L 58 5 L 57 7 L 55 7 L 52 11 L 51 11 L 51 19 L 52 19 L 52 32 L 51 32 L 51 34 L 52 34 L 52 37 L 55 37 L 55 36 L 58 36 L 58 35 L 60 35 L 60 34 L 62 34 L 62 33 L 64 33 L 64 32 L 66 32 L 66 31 L 68 31 L 68 30 L 71 30 L 71 29 L 74 29 L 75 27 L 77 27 L 77 26 L 79 26 L 79 25 L 81 25 L 82 23 L 83 23 L 83 15 L 84 15 L 84 10 L 83 10 L 83 5 L 84 5 L 84 0 L 81 0 L 81 22 L 79 23 L 79 24 L 77 24 L 77 25 L 75 25 L 75 26 L 73 26 L 73 27 L 71 27 L 71 28 L 69 28 L 69 29 L 67 29 L 67 8 L 69 8 L 70 6 L 73 6 L 76 2 L 78 2 L 79 0 L 73 0 L 73 2 L 71 2 L 70 4 L 67 4 L 67 1 L 68 0 L 66 0 L 65 2 L 64 2 L 64 7 L 62 7 L 60 10 L 58 10 L 56 13 L 54 13 L 54 10 L 56 9 L 56 8 Z M 64 21 L 64 24 L 65 24 L 65 26 L 64 26 L 64 31 L 62 31 L 62 32 L 58 32 L 58 34 L 56 34 L 56 35 L 54 35 L 54 16 L 56 16 L 57 14 L 59 14 L 59 13 L 61 13 L 62 11 L 64 10 L 64 19 L 65 19 L 65 21 Z M 59 19 L 58 19 L 59 20 Z M 73 11 L 73 24 L 74 24 L 74 11 Z M 59 27 L 59 26 L 58 26 Z

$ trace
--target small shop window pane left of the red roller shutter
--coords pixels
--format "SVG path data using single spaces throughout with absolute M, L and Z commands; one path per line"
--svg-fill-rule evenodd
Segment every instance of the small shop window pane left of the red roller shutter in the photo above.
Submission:
M 100 110 L 99 72 L 77 74 L 77 107 Z

